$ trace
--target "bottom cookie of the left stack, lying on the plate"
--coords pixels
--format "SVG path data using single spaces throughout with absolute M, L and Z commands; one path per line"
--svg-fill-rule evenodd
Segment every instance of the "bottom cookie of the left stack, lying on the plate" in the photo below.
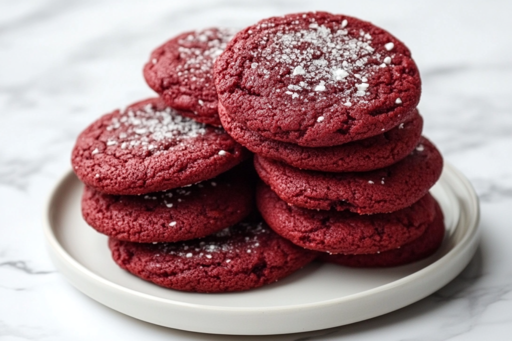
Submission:
M 144 244 L 109 239 L 114 261 L 155 284 L 185 291 L 227 292 L 273 283 L 317 254 L 246 220 L 202 239 Z

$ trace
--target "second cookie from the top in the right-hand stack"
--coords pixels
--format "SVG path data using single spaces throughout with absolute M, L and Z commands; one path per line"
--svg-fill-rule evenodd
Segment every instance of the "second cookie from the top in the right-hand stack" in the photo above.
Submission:
M 219 104 L 219 112 L 224 107 Z M 419 113 L 383 134 L 332 147 L 302 147 L 264 138 L 222 115 L 222 125 L 241 145 L 261 156 L 293 167 L 324 172 L 364 172 L 392 165 L 417 146 L 423 119 Z

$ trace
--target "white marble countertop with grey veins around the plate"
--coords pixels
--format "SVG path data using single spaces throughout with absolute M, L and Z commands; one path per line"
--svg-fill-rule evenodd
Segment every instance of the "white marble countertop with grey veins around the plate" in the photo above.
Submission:
M 168 329 L 86 297 L 50 261 L 45 200 L 69 169 L 77 134 L 152 96 L 142 65 L 185 30 L 244 27 L 328 10 L 404 41 L 421 71 L 424 133 L 481 199 L 480 248 L 452 283 L 375 319 L 303 334 L 218 336 Z M 0 340 L 507 340 L 512 335 L 512 4 L 507 2 L 0 3 Z M 507 265 L 509 264 L 509 265 Z

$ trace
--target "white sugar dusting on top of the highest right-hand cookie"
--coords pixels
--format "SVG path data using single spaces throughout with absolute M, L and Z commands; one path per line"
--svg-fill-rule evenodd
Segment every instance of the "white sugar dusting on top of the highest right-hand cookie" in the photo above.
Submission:
M 365 102 L 365 95 L 372 91 L 369 80 L 381 64 L 391 63 L 390 56 L 375 52 L 372 36 L 362 30 L 357 35 L 349 32 L 347 19 L 333 27 L 319 25 L 314 18 L 309 19 L 307 28 L 297 29 L 293 24 L 300 22 L 293 21 L 263 37 L 260 44 L 264 47 L 253 52 L 258 63 L 253 62 L 251 67 L 264 78 L 268 78 L 276 62 L 289 68 L 290 73 L 285 76 L 287 88 L 275 91 L 283 90 L 291 100 L 307 102 L 308 96 L 323 99 L 322 93 L 331 91 L 346 106 Z M 258 29 L 265 32 L 266 27 L 273 25 L 260 24 Z

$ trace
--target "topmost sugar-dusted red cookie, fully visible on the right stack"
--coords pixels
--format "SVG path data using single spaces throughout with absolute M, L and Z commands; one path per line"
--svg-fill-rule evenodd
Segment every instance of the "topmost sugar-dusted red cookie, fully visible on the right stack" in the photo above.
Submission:
M 390 33 L 326 12 L 264 19 L 237 33 L 214 66 L 226 115 L 268 139 L 325 147 L 406 121 L 421 82 Z

